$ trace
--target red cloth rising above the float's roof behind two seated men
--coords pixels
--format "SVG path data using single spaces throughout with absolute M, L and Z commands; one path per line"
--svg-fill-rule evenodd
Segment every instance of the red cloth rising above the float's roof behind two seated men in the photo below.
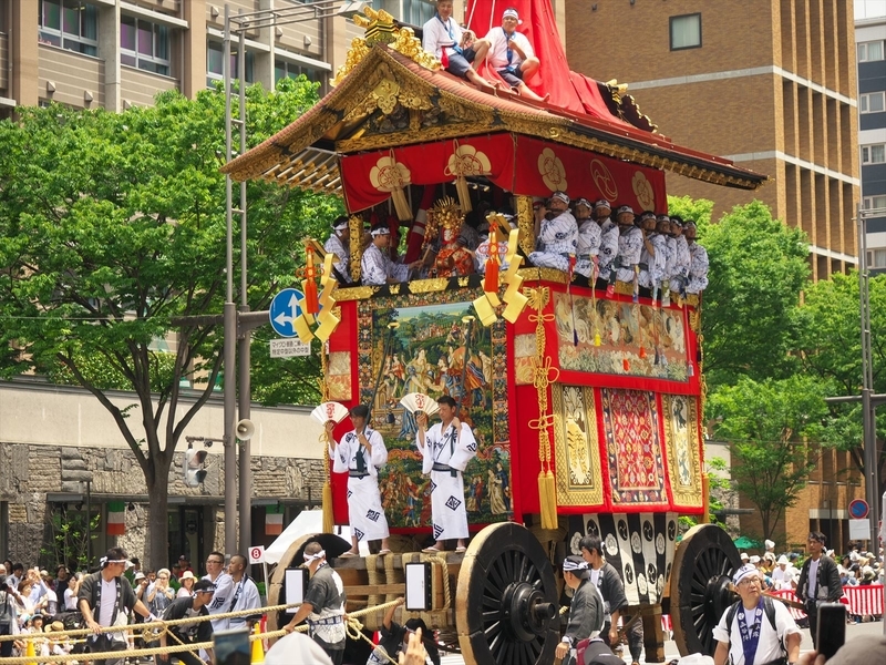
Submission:
M 501 27 L 502 13 L 509 7 L 519 13 L 523 23 L 517 30 L 526 35 L 542 62 L 538 73 L 526 81 L 529 88 L 542 96 L 550 94 L 552 106 L 628 124 L 609 112 L 596 81 L 569 69 L 550 0 L 468 0 L 467 27 L 482 38 Z

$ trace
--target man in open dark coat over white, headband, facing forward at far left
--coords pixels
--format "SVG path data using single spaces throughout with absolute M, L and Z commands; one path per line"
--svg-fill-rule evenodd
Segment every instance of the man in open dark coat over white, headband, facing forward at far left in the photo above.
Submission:
M 135 597 L 132 585 L 123 573 L 130 561 L 123 548 L 111 548 L 101 559 L 101 570 L 86 575 L 78 593 L 78 607 L 83 613 L 86 627 L 95 635 L 86 638 L 90 652 L 126 649 L 126 634 L 101 633 L 102 627 L 126 625 L 126 615 L 135 612 L 147 621 L 156 617 Z M 122 665 L 123 658 L 95 661 L 96 665 Z

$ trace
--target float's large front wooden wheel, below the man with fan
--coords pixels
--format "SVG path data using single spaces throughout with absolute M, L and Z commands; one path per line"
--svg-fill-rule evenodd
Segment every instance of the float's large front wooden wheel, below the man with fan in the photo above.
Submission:
M 542 544 L 524 526 L 487 526 L 459 572 L 455 627 L 467 663 L 547 665 L 559 641 L 557 586 Z

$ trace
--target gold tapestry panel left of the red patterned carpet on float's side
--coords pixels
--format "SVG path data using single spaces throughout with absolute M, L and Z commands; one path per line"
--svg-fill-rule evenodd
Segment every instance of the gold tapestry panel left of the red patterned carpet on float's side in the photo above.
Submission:
M 557 504 L 602 504 L 600 447 L 594 389 L 554 385 Z

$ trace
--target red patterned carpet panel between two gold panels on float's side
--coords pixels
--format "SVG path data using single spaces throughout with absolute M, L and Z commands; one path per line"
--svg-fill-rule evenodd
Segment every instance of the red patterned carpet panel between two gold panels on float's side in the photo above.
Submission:
M 655 392 L 600 389 L 612 504 L 664 503 Z

